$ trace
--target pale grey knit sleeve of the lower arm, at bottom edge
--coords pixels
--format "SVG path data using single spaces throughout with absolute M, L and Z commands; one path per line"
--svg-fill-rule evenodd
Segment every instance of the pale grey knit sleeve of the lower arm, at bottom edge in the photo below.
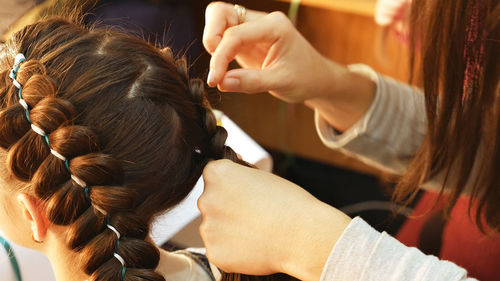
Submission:
M 352 220 L 334 246 L 320 281 L 473 281 L 451 262 L 406 247 L 361 218 Z M 477 281 L 477 280 L 476 280 Z

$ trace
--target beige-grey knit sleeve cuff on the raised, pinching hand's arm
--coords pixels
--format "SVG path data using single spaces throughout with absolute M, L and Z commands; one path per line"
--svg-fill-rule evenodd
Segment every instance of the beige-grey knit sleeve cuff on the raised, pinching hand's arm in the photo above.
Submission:
M 370 166 L 404 173 L 427 132 L 424 95 L 366 65 L 350 65 L 349 69 L 376 84 L 374 99 L 364 115 L 342 133 L 316 110 L 319 137 L 327 147 Z

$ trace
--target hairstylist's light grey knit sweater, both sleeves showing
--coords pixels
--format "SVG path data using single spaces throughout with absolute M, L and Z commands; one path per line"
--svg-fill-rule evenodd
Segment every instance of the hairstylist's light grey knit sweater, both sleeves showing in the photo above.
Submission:
M 365 65 L 351 71 L 377 83 L 373 104 L 353 127 L 337 134 L 316 112 L 316 128 L 323 143 L 379 169 L 403 173 L 426 133 L 424 97 L 417 89 L 382 77 Z M 435 189 L 429 182 L 425 186 Z M 387 233 L 379 233 L 355 218 L 339 238 L 320 281 L 458 281 L 467 271 L 451 262 L 406 247 Z

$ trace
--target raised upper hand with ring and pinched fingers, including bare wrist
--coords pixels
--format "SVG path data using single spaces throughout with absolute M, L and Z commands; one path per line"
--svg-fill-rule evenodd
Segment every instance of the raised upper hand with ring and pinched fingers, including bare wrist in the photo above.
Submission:
M 212 54 L 210 86 L 305 102 L 340 131 L 368 110 L 375 83 L 319 54 L 283 13 L 249 10 L 245 22 L 238 21 L 231 4 L 207 7 L 203 44 Z M 242 68 L 228 71 L 234 59 Z

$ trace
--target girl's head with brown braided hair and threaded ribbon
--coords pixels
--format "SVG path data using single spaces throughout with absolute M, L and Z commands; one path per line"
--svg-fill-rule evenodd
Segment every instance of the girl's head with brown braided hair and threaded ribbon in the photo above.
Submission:
M 17 54 L 25 60 L 9 77 Z M 208 159 L 237 160 L 185 61 L 60 18 L 1 49 L 0 107 L 0 227 L 28 246 L 56 235 L 91 280 L 164 280 L 147 238 L 153 218 Z

